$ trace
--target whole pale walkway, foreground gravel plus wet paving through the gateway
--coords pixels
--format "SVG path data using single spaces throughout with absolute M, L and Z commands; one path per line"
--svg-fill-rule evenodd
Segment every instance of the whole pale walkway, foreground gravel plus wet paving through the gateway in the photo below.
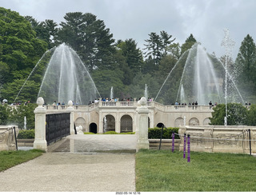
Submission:
M 0 191 L 134 192 L 135 143 L 134 135 L 67 137 L 50 153 L 0 172 Z

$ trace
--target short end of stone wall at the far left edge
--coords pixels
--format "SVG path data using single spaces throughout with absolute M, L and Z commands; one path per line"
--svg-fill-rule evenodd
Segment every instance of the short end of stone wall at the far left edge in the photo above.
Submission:
M 0 151 L 15 150 L 16 137 L 18 136 L 18 126 L 7 125 L 0 126 Z

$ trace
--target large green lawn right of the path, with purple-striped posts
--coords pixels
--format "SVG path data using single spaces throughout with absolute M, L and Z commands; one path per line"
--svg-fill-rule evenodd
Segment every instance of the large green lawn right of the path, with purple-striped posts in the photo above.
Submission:
M 141 150 L 136 153 L 136 191 L 255 192 L 256 158 L 248 154 Z

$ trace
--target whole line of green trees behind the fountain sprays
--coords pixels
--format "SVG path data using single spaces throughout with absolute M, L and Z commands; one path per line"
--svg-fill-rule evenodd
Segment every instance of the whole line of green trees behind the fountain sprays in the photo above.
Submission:
M 145 84 L 150 97 L 154 98 L 182 54 L 197 42 L 190 34 L 180 44 L 162 30 L 147 34 L 145 48 L 140 49 L 132 38 L 115 40 L 103 20 L 81 12 L 66 13 L 64 22 L 58 24 L 50 19 L 38 22 L 32 16 L 23 17 L 0 7 L 0 26 L 0 100 L 7 99 L 10 103 L 46 50 L 63 42 L 72 47 L 88 67 L 102 98 L 110 97 L 113 86 L 114 96 L 121 99 L 142 97 Z M 247 98 L 251 102 L 256 90 L 255 59 L 256 46 L 248 34 L 236 60 L 229 59 L 229 69 L 238 86 L 250 91 Z M 178 82 L 179 78 L 175 79 Z M 38 82 L 30 85 L 38 87 Z M 36 97 L 38 91 L 27 93 Z

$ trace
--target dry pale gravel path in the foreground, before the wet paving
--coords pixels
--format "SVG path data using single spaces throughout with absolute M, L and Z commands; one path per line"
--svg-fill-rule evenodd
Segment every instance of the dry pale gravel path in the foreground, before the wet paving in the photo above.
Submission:
M 134 153 L 44 153 L 0 173 L 1 192 L 134 192 Z

